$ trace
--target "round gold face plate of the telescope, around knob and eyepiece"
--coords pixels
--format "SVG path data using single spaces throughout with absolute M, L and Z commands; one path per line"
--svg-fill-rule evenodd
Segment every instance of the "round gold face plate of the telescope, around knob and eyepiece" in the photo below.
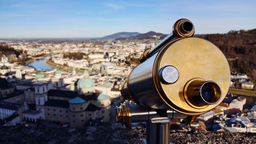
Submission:
M 173 84 L 161 83 L 159 70 L 172 65 L 179 71 L 179 79 Z M 183 38 L 159 51 L 154 67 L 155 87 L 162 100 L 172 109 L 198 115 L 216 107 L 226 96 L 230 84 L 230 69 L 226 57 L 214 44 L 200 38 Z M 192 107 L 184 97 L 184 87 L 194 78 L 212 80 L 220 85 L 222 97 L 216 104 Z

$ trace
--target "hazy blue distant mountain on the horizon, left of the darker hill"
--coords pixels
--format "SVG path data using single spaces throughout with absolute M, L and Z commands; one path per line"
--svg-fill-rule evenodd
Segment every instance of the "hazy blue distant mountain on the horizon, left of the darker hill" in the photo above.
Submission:
M 139 34 L 140 33 L 137 33 L 137 32 L 120 32 L 120 33 L 105 36 L 105 37 L 102 37 L 102 38 L 96 38 L 94 40 L 115 40 L 115 39 L 119 39 L 119 38 L 129 38 L 129 37 L 132 37 L 132 36 L 137 36 Z

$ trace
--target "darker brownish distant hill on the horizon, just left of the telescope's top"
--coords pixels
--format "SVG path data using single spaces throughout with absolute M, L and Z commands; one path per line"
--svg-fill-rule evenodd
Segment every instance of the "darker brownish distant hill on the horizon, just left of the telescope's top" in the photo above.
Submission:
M 145 34 L 139 34 L 139 35 L 136 35 L 136 36 L 131 36 L 129 38 L 118 38 L 118 39 L 115 39 L 115 40 L 125 40 L 125 39 L 152 39 L 152 38 L 160 38 L 164 36 L 164 34 L 162 33 L 156 33 L 156 32 L 153 32 L 153 31 L 150 31 L 150 32 L 147 32 Z

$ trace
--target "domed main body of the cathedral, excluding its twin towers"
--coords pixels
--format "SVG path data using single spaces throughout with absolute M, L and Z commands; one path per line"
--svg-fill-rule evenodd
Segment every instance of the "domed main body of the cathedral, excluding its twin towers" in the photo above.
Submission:
M 84 72 L 87 74 L 88 72 Z M 82 127 L 90 120 L 110 121 L 110 97 L 95 90 L 89 73 L 78 80 L 77 91 L 50 90 L 45 119 Z

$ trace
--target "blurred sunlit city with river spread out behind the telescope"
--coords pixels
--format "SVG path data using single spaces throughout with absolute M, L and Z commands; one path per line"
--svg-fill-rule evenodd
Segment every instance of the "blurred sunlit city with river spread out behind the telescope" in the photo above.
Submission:
M 115 106 L 123 101 L 121 85 L 143 50 L 164 36 L 149 32 L 115 40 L 1 40 L 0 125 L 122 128 L 115 120 Z M 229 94 L 219 106 L 192 123 L 173 120 L 171 129 L 256 133 L 251 79 L 232 73 Z

